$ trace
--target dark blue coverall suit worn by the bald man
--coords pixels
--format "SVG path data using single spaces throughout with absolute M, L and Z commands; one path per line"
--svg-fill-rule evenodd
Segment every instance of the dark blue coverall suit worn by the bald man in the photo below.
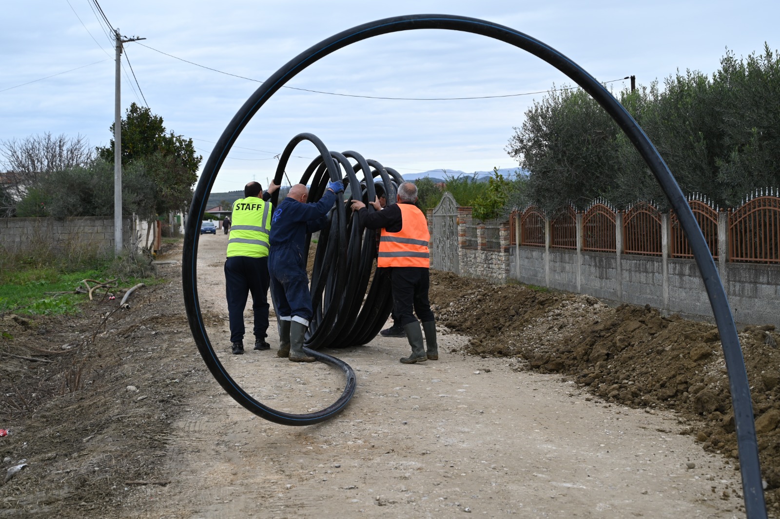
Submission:
M 285 198 L 271 218 L 268 242 L 268 272 L 271 274 L 271 295 L 280 320 L 293 320 L 309 326 L 314 312 L 311 308 L 307 258 L 303 256 L 306 235 L 321 231 L 328 225 L 328 211 L 336 195 L 326 190 L 317 203 L 301 203 Z

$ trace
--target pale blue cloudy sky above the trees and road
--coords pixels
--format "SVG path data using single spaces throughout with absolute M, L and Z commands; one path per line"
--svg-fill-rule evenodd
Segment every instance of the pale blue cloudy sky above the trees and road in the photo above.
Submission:
M 711 73 L 726 48 L 737 56 L 761 51 L 764 42 L 780 48 L 776 0 L 98 2 L 123 35 L 147 38 L 126 44 L 137 84 L 123 58 L 122 112 L 133 101 L 147 104 L 168 129 L 193 139 L 204 163 L 257 81 L 332 34 L 388 16 L 433 12 L 488 19 L 544 41 L 603 82 L 633 74 L 648 84 L 677 69 Z M 94 146 L 111 139 L 114 49 L 93 8 L 91 0 L 5 2 L 0 141 L 42 132 L 80 134 Z M 523 51 L 441 30 L 353 44 L 288 83 L 375 97 L 500 96 L 566 84 L 560 72 Z M 629 81 L 609 84 L 620 90 Z M 395 101 L 282 89 L 244 130 L 214 191 L 243 189 L 253 178 L 266 185 L 275 171 L 273 156 L 299 132 L 313 132 L 331 150 L 356 150 L 402 174 L 511 168 L 516 163 L 505 147 L 512 127 L 543 95 Z M 295 154 L 288 168 L 293 182 L 314 157 L 314 147 L 301 144 Z

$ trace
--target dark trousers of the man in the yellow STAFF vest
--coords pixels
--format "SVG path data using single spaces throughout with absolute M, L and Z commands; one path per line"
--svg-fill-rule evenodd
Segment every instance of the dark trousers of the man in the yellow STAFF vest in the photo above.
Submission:
M 246 297 L 252 293 L 254 336 L 268 337 L 268 257 L 231 256 L 225 261 L 225 293 L 230 317 L 230 342 L 243 341 L 243 311 Z

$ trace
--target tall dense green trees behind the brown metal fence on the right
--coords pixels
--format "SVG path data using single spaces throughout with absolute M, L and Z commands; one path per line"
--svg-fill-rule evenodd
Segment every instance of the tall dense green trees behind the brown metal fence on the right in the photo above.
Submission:
M 780 187 L 780 54 L 768 45 L 746 58 L 727 51 L 712 76 L 677 72 L 619 99 L 683 192 L 735 206 L 753 189 Z M 530 170 L 524 198 L 548 212 L 597 196 L 668 206 L 632 143 L 582 90 L 534 102 L 507 151 Z

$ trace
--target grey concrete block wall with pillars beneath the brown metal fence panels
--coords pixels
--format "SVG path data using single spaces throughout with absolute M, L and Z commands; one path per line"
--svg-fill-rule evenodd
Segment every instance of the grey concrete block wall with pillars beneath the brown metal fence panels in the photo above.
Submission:
M 685 316 L 712 318 L 707 291 L 694 260 L 670 257 L 669 218 L 662 214 L 661 256 L 622 252 L 622 214 L 616 215 L 616 252 L 582 250 L 581 215 L 578 215 L 577 248 L 509 246 L 509 224 L 502 228 L 501 249 L 485 250 L 484 228 L 477 228 L 480 246 L 465 247 L 463 224 L 471 222 L 471 208 L 459 207 L 459 262 L 461 275 L 497 283 L 510 280 L 556 288 L 614 302 L 651 305 Z M 780 327 L 780 265 L 729 263 L 726 224 L 721 215 L 718 268 L 734 319 L 743 324 L 774 324 Z M 519 243 L 519 226 L 516 226 Z

